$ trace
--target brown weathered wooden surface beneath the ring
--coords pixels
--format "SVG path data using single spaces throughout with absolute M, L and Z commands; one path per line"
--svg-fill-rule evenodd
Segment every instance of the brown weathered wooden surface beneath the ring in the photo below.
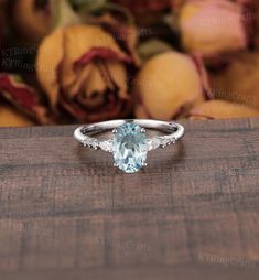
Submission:
M 134 175 L 75 127 L 0 129 L 0 279 L 259 279 L 259 119 L 185 125 Z

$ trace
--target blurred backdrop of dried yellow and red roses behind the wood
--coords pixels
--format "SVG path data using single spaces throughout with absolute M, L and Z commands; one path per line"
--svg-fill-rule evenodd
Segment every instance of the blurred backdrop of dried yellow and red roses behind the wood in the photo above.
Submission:
M 259 117 L 258 0 L 0 0 L 0 126 Z

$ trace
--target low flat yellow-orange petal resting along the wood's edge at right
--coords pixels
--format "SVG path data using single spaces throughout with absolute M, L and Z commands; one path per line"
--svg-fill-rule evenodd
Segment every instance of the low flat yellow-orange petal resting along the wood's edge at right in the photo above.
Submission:
M 230 119 L 259 117 L 259 110 L 225 100 L 211 100 L 201 104 L 190 111 L 190 118 L 196 119 Z

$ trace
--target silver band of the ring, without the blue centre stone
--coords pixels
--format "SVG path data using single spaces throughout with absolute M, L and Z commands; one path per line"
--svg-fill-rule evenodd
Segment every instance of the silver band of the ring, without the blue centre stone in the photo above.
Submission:
M 161 142 L 160 143 L 161 146 L 163 146 L 163 142 L 164 142 L 164 146 L 171 142 L 175 142 L 176 140 L 180 140 L 184 136 L 184 127 L 176 122 L 166 122 L 166 121 L 151 120 L 151 119 L 129 119 L 129 120 L 110 120 L 110 121 L 102 121 L 98 123 L 83 126 L 75 130 L 74 137 L 77 141 L 82 142 L 85 146 L 88 146 L 95 149 L 100 148 L 102 150 L 110 151 L 110 147 L 108 148 L 110 140 L 97 139 L 94 136 L 116 129 L 128 122 L 138 125 L 141 128 L 158 130 L 160 132 L 165 133 L 165 136 L 153 137 L 150 139 L 151 142 L 159 140 Z M 153 149 L 150 149 L 150 150 L 153 150 Z

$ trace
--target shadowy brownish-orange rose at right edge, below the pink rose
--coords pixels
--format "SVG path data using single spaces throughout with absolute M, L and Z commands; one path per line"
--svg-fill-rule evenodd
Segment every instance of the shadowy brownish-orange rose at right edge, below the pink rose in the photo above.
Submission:
M 242 53 L 225 69 L 211 74 L 217 98 L 259 109 L 259 53 Z

